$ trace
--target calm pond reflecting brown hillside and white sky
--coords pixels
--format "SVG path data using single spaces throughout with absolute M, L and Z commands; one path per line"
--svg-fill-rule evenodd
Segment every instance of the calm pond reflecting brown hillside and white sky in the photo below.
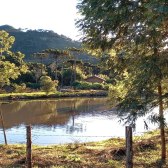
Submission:
M 38 145 L 100 141 L 124 137 L 106 98 L 58 98 L 3 102 L 1 105 L 7 141 L 26 143 L 26 125 L 32 126 L 32 143 Z M 154 128 L 154 127 L 152 127 Z M 143 119 L 136 133 L 144 132 Z M 4 143 L 0 122 L 0 143 Z

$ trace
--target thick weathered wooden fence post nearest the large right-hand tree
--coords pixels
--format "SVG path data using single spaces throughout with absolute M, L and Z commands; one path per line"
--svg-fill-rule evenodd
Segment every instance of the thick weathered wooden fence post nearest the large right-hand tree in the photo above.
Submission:
M 126 168 L 133 168 L 132 127 L 126 126 Z

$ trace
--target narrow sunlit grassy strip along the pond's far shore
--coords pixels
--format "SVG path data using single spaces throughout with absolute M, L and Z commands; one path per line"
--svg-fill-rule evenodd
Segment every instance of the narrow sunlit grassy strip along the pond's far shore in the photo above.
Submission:
M 8 93 L 0 94 L 0 100 L 20 100 L 20 99 L 40 99 L 40 98 L 60 98 L 60 97 L 97 97 L 107 96 L 104 90 L 63 90 L 62 92 L 31 92 L 31 93 Z

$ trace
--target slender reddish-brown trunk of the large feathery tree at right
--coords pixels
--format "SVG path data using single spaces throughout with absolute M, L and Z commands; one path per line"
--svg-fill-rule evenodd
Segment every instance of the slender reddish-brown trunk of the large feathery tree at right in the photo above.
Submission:
M 162 87 L 161 84 L 158 85 L 158 94 L 159 94 L 159 114 L 163 117 L 163 101 L 162 101 Z M 161 134 L 161 143 L 162 143 L 162 159 L 166 158 L 166 141 L 165 141 L 165 132 L 164 124 L 160 123 L 160 134 Z

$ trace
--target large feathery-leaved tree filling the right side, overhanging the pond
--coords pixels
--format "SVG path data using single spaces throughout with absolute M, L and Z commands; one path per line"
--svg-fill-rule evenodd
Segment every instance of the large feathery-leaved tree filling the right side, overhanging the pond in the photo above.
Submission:
M 84 34 L 84 46 L 101 57 L 120 79 L 110 94 L 111 101 L 118 103 L 118 115 L 127 113 L 126 123 L 135 126 L 138 117 L 159 106 L 159 114 L 151 114 L 149 119 L 159 123 L 165 159 L 166 1 L 82 0 L 77 8 L 83 15 L 76 24 Z

